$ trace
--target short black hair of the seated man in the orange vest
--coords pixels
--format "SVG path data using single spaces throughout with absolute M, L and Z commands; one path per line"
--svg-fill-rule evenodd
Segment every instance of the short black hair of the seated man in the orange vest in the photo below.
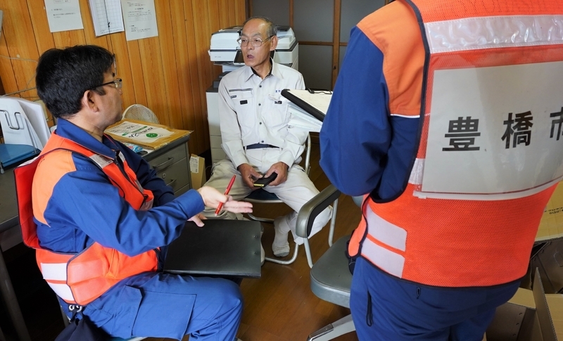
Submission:
M 103 84 L 104 74 L 111 70 L 114 56 L 95 45 L 77 45 L 50 49 L 39 57 L 35 75 L 37 96 L 55 117 L 75 115 L 82 109 L 87 90 L 106 94 L 96 88 Z

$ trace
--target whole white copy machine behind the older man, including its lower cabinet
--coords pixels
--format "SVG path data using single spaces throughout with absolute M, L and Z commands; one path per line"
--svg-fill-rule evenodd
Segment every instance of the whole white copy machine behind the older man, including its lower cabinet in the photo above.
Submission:
M 277 48 L 274 52 L 274 62 L 298 70 L 299 43 L 289 26 L 277 26 Z M 209 137 L 211 144 L 211 162 L 223 160 L 224 151 L 221 148 L 221 129 L 219 125 L 219 98 L 217 89 L 222 76 L 244 65 L 241 46 L 236 42 L 242 26 L 228 27 L 211 34 L 210 49 L 208 51 L 211 61 L 221 65 L 222 74 L 213 81 L 205 96 L 207 98 L 207 112 L 209 123 Z

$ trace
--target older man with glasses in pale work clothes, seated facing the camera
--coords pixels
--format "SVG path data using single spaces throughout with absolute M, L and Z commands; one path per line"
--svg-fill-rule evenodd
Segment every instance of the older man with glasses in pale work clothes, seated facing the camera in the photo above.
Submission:
M 295 232 L 296 212 L 319 191 L 298 165 L 308 131 L 289 126 L 287 101 L 281 96 L 283 89 L 305 89 L 305 82 L 297 70 L 270 58 L 278 43 L 276 34 L 268 18 L 253 17 L 243 23 L 238 42 L 245 66 L 225 75 L 219 85 L 221 146 L 228 159 L 217 162 L 206 185 L 224 191 L 235 175 L 229 195 L 240 200 L 256 189 L 257 179 L 276 173 L 276 179 L 263 188 L 293 210 L 274 220 L 272 250 L 275 256 L 285 257 L 289 231 Z M 213 210 L 206 209 L 205 215 L 213 216 Z M 319 214 L 312 234 L 329 217 L 330 209 Z M 303 243 L 295 234 L 293 238 Z

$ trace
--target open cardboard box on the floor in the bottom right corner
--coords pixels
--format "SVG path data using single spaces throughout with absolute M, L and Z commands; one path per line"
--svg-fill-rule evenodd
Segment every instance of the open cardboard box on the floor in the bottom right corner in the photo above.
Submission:
M 498 307 L 486 337 L 488 341 L 563 341 L 563 295 L 546 295 L 536 269 L 533 290 L 519 288 Z

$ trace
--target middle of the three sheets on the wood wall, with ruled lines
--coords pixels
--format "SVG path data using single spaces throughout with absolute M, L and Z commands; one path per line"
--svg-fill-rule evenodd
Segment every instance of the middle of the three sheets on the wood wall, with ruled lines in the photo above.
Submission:
M 96 37 L 123 32 L 123 18 L 119 0 L 88 0 Z

